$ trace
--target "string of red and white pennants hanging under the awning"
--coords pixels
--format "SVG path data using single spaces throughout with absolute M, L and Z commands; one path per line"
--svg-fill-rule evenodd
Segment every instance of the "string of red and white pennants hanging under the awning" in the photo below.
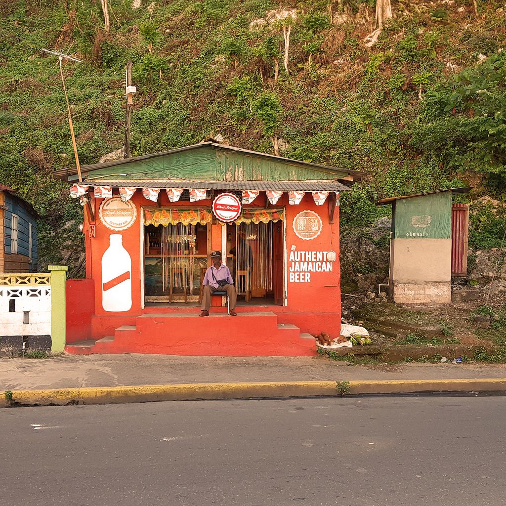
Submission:
M 72 198 L 79 197 L 81 199 L 81 203 L 83 201 L 83 197 L 87 194 L 90 186 L 75 184 L 70 188 L 70 196 Z M 140 189 L 140 188 L 139 188 Z M 126 202 L 130 200 L 134 193 L 138 190 L 135 187 L 120 187 L 119 188 L 119 196 L 121 200 Z M 142 195 L 152 202 L 156 202 L 158 200 L 158 194 L 160 193 L 161 188 L 142 188 Z M 177 202 L 181 194 L 184 191 L 184 188 L 166 188 L 167 197 L 171 202 Z M 93 192 L 95 198 L 111 198 L 112 197 L 112 186 L 94 186 Z M 199 200 L 205 200 L 207 198 L 207 190 L 204 189 L 196 189 L 192 188 L 189 190 L 190 192 L 190 202 L 197 202 Z M 274 205 L 281 198 L 284 191 L 282 190 L 267 190 L 265 192 L 267 194 L 267 198 L 269 202 Z M 306 193 L 304 191 L 295 191 L 288 190 L 288 202 L 292 205 L 300 204 L 302 198 Z M 336 198 L 339 203 L 339 192 L 333 191 L 312 191 L 313 199 L 316 205 L 323 205 L 330 193 L 335 193 Z M 260 195 L 260 190 L 243 190 L 242 191 L 242 203 L 243 204 L 251 204 L 258 196 Z

